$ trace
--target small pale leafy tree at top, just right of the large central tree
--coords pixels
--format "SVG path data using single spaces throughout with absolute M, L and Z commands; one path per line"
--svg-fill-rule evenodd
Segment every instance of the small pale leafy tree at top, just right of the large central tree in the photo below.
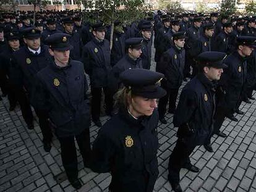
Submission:
M 181 5 L 181 1 L 160 0 L 159 7 L 160 9 L 168 10 L 168 12 L 184 12 L 184 8 Z

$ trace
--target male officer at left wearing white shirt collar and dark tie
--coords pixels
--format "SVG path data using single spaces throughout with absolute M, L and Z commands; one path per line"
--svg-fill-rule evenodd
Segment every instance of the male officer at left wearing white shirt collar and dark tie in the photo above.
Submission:
M 48 114 L 36 107 L 37 101 L 33 99 L 33 96 L 35 93 L 35 75 L 49 64 L 51 56 L 47 46 L 40 46 L 41 33 L 39 30 L 31 27 L 25 28 L 22 32 L 23 41 L 26 45 L 12 54 L 10 79 L 11 83 L 14 83 L 16 95 L 19 95 L 17 99 L 28 129 L 33 129 L 33 115 L 30 104 L 35 109 L 43 134 L 43 147 L 46 152 L 49 152 L 53 135 L 47 120 Z M 24 88 L 28 92 L 29 101 Z

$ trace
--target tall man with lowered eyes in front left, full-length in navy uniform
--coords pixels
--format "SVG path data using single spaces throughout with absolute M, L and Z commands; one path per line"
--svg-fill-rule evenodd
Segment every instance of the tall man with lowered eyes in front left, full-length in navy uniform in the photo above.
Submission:
M 83 64 L 69 58 L 72 46 L 70 35 L 54 33 L 46 38 L 54 61 L 37 73 L 38 107 L 48 111 L 56 135 L 61 143 L 61 159 L 67 178 L 78 189 L 82 185 L 77 170 L 75 140 L 85 167 L 90 161 L 90 111 L 86 92 L 87 80 Z

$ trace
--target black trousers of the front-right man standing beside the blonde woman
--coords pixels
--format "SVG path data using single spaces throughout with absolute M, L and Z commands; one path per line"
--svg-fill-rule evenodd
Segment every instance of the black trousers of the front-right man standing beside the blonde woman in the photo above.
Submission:
M 190 164 L 189 156 L 195 149 L 195 146 L 184 143 L 181 139 L 177 140 L 173 153 L 169 157 L 168 179 L 171 183 L 179 183 L 179 172 L 186 164 Z

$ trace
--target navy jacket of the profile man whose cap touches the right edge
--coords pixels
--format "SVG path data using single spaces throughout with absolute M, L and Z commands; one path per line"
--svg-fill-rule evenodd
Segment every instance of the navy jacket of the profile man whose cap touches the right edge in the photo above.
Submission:
M 228 68 L 223 70 L 219 84 L 226 94 L 220 105 L 234 109 L 247 80 L 247 61 L 235 51 L 226 57 L 224 63 Z

